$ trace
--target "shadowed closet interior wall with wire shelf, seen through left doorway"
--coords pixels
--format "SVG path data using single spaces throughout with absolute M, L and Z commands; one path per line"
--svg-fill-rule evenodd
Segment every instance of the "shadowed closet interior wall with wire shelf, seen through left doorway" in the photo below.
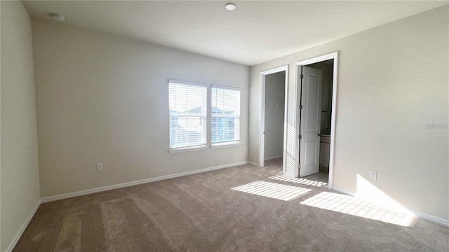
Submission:
M 265 102 L 283 104 L 285 101 L 286 72 L 265 76 Z M 285 106 L 277 108 L 265 104 L 264 158 L 280 158 L 283 154 L 283 114 Z

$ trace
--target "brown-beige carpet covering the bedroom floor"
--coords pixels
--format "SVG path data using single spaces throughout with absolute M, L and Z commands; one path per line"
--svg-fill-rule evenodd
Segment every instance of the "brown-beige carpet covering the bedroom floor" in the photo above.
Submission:
M 274 163 L 42 204 L 14 251 L 428 252 L 449 251 L 448 237 Z

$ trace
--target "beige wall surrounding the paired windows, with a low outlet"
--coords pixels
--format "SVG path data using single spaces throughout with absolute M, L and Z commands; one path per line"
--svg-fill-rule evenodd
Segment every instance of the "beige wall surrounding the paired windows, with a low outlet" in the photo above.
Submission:
M 42 197 L 246 162 L 248 66 L 41 20 L 33 39 Z M 168 153 L 168 78 L 241 87 L 241 146 Z

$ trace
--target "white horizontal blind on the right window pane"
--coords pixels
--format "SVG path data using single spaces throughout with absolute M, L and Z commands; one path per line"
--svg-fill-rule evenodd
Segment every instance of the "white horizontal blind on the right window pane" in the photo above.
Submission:
M 240 140 L 240 91 L 212 87 L 212 144 Z

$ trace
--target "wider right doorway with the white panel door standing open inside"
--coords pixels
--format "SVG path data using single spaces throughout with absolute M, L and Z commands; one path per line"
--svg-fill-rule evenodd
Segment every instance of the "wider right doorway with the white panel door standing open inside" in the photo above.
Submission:
M 333 187 L 338 53 L 296 63 L 297 167 L 295 176 Z M 326 181 L 327 180 L 327 181 Z

